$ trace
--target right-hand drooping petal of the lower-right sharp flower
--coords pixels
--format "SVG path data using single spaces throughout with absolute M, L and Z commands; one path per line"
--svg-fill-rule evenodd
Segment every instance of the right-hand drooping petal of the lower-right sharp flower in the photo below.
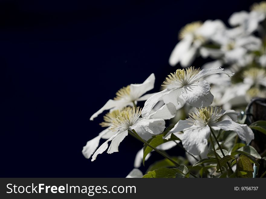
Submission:
M 254 139 L 254 133 L 246 124 L 238 124 L 232 120 L 223 120 L 212 124 L 212 126 L 220 127 L 225 131 L 235 131 L 238 137 L 246 141 L 246 143 Z

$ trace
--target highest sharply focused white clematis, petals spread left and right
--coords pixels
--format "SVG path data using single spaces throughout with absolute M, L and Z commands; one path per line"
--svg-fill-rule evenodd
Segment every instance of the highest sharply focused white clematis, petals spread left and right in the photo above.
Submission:
M 212 103 L 213 95 L 210 93 L 210 85 L 207 81 L 201 79 L 218 73 L 224 73 L 229 77 L 234 75 L 220 67 L 201 71 L 194 69 L 194 67 L 177 69 L 174 74 L 168 75 L 168 78 L 164 81 L 164 86 L 167 86 L 167 88 L 152 95 L 145 102 L 142 116 L 145 117 L 149 114 L 158 101 L 164 101 L 165 104 L 173 103 L 177 107 L 180 96 L 193 107 L 209 106 Z

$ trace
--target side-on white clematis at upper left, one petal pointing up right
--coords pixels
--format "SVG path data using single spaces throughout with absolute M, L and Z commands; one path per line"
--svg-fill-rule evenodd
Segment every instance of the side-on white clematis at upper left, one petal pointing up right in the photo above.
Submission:
M 105 110 L 121 109 L 126 106 L 133 106 L 137 101 L 147 100 L 152 94 L 143 94 L 154 88 L 154 81 L 155 76 L 152 73 L 142 84 L 131 84 L 121 88 L 116 92 L 116 97 L 113 100 L 109 99 L 99 111 L 90 117 L 90 120 L 93 120 Z

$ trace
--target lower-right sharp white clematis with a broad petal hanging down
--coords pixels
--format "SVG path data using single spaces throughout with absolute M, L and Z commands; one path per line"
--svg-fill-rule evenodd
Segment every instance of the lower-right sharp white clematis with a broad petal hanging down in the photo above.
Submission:
M 186 120 L 180 120 L 174 128 L 169 131 L 165 139 L 169 139 L 171 133 L 183 131 L 183 147 L 193 155 L 204 152 L 210 136 L 210 127 L 218 127 L 225 131 L 235 131 L 241 140 L 249 143 L 254 139 L 252 130 L 246 124 L 238 124 L 238 114 L 234 110 L 224 111 L 218 107 L 197 108 L 195 113 L 189 114 Z M 218 121 L 222 116 L 228 115 L 231 120 Z

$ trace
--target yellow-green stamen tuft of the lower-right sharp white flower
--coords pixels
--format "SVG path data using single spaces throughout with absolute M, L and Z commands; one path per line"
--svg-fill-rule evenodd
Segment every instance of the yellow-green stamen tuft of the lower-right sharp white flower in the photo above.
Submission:
M 189 117 L 193 120 L 195 125 L 212 124 L 221 117 L 222 109 L 219 107 L 204 107 L 197 108 L 196 113 L 190 113 Z

